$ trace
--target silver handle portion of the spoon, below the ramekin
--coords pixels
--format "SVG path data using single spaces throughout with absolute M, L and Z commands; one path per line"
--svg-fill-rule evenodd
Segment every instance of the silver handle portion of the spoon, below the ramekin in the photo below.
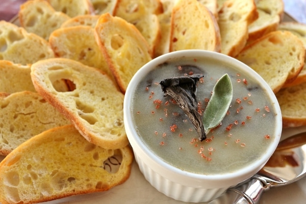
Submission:
M 209 204 L 257 204 L 264 191 L 264 184 L 254 178 L 241 186 L 228 189 L 227 192 Z

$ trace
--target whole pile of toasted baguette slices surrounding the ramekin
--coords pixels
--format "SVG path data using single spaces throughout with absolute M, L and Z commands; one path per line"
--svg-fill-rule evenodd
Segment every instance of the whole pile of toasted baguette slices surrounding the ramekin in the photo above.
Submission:
M 122 115 L 126 87 L 141 66 L 175 50 L 244 62 L 276 94 L 284 127 L 306 125 L 306 29 L 281 22 L 283 14 L 282 0 L 27 1 L 16 24 L 0 21 L 0 117 L 12 118 L 0 122 L 7 155 L 0 202 L 42 202 L 124 182 L 133 159 Z M 112 156 L 121 165 L 109 174 Z

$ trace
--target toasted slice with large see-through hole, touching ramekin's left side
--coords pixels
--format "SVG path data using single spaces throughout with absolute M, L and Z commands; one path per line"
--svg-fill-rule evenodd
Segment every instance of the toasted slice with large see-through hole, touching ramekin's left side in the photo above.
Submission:
M 91 143 L 106 149 L 126 146 L 123 97 L 108 75 L 80 62 L 56 58 L 32 65 L 35 89 L 63 113 Z M 73 90 L 59 92 L 53 82 L 70 81 Z

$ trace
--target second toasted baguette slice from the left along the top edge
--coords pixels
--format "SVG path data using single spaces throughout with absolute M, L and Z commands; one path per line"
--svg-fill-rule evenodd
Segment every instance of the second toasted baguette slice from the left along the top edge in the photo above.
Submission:
M 47 0 L 56 10 L 65 13 L 70 17 L 79 15 L 94 14 L 94 8 L 90 0 Z

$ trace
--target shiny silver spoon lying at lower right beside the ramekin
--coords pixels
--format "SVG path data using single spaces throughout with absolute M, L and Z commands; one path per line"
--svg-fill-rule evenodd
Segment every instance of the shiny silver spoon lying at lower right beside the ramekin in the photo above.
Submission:
M 248 182 L 209 202 L 209 204 L 257 204 L 270 188 L 291 184 L 306 175 L 306 133 L 279 142 L 267 164 Z

